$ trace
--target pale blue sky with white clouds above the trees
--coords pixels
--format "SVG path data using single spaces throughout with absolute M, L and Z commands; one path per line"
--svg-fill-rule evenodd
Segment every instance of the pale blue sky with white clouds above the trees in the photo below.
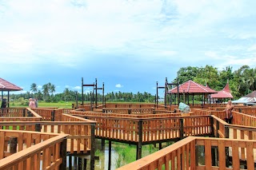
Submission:
M 256 63 L 254 0 L 0 0 L 0 77 L 149 92 L 181 67 Z M 91 89 L 85 89 L 90 91 Z

